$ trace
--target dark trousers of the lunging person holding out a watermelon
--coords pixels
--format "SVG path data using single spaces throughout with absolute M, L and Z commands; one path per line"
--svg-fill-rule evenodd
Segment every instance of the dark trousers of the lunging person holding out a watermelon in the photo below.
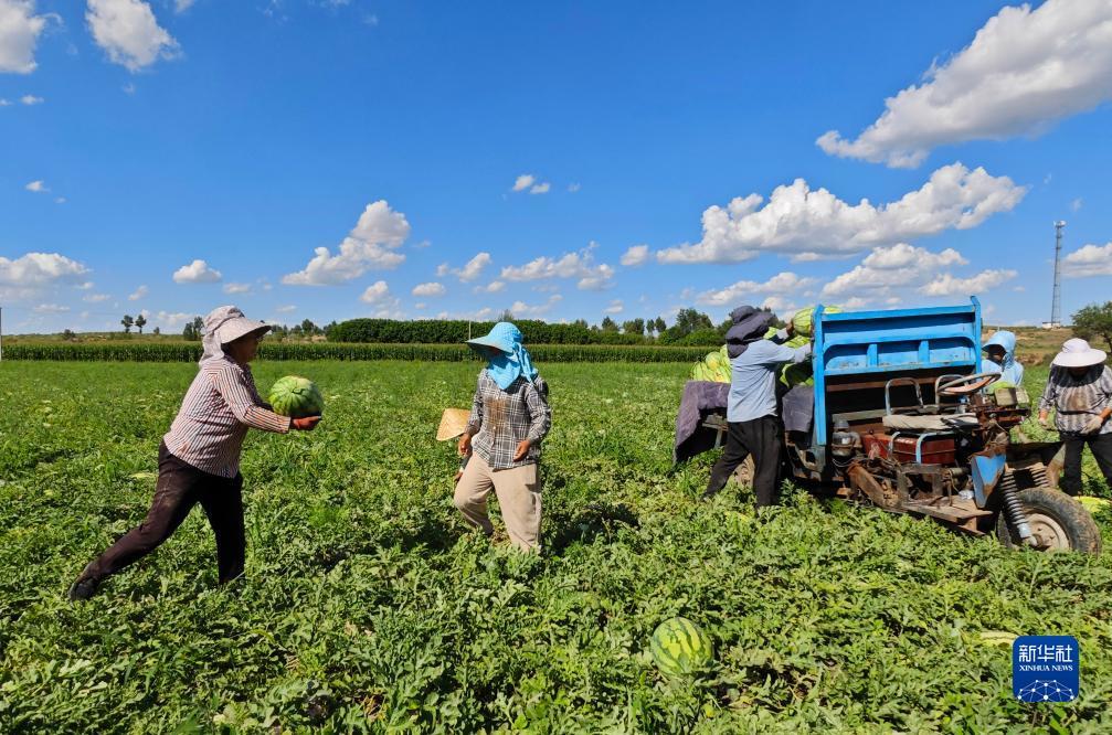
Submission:
M 86 567 L 81 578 L 107 577 L 147 556 L 200 504 L 216 534 L 220 582 L 235 579 L 244 573 L 247 549 L 242 487 L 242 475 L 227 478 L 203 473 L 171 455 L 163 443 L 158 448 L 158 485 L 147 517 Z

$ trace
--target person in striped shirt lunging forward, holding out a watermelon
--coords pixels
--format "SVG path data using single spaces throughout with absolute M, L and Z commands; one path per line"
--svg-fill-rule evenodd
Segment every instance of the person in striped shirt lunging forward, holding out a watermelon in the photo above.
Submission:
M 70 599 L 88 599 L 101 579 L 153 552 L 200 504 L 216 534 L 221 584 L 244 573 L 244 477 L 239 455 L 248 428 L 286 434 L 311 430 L 319 416 L 279 416 L 255 389 L 248 367 L 270 329 L 234 306 L 205 318 L 205 352 L 178 416 L 158 448 L 155 499 L 141 524 L 90 563 L 70 587 Z

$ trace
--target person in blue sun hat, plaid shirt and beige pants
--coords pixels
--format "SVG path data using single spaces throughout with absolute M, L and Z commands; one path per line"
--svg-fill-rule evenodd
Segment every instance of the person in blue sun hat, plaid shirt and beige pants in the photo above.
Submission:
M 487 496 L 498 497 L 509 540 L 519 549 L 540 549 L 540 443 L 552 426 L 548 386 L 508 321 L 467 342 L 486 358 L 479 373 L 460 456 L 470 456 L 454 501 L 469 524 L 490 536 Z

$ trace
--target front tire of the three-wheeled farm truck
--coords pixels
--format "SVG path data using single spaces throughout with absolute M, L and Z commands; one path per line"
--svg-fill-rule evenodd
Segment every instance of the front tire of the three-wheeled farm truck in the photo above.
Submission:
M 1043 540 L 1041 550 L 1101 553 L 1100 528 L 1076 499 L 1045 487 L 1029 487 L 1016 496 L 1027 514 L 1031 530 Z M 1007 548 L 1023 546 L 1020 535 L 1009 527 L 1003 510 L 996 519 L 996 537 Z

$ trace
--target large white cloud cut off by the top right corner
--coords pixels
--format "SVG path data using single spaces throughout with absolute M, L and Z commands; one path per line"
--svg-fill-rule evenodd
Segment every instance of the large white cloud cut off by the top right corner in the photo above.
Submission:
M 884 102 L 856 140 L 831 130 L 827 153 L 914 168 L 932 148 L 1037 133 L 1112 100 L 1112 2 L 1006 7 L 925 81 Z

